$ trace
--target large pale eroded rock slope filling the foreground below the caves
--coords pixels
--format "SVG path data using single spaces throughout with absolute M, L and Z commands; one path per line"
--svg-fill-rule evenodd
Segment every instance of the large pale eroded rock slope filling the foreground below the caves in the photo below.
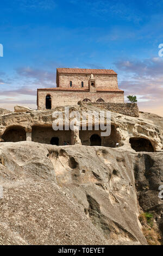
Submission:
M 0 151 L 1 244 L 147 243 L 134 170 L 163 153 L 34 142 L 1 143 Z

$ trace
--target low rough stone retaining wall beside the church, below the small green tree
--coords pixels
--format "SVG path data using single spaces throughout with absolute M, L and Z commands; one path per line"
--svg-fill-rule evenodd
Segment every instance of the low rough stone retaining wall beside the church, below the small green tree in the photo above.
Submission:
M 107 109 L 111 112 L 130 115 L 130 117 L 139 117 L 139 108 L 137 103 L 105 103 L 105 102 L 78 102 L 79 105 L 89 104 L 90 106 L 97 106 L 102 109 Z

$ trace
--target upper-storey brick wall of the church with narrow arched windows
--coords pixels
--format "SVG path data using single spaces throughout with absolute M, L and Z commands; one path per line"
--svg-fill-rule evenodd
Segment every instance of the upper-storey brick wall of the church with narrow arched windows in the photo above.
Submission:
M 70 81 L 72 81 L 72 88 L 81 88 L 82 81 L 84 88 L 89 89 L 89 79 L 91 74 L 59 74 L 57 80 L 57 87 L 70 88 Z M 96 80 L 97 89 L 118 88 L 117 75 L 93 75 Z

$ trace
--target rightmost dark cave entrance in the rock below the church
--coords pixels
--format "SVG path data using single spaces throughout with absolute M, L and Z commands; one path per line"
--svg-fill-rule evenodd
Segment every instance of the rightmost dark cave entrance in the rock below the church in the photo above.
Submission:
M 145 138 L 130 138 L 129 143 L 131 144 L 131 148 L 136 152 L 146 151 L 146 152 L 154 152 L 153 145 L 149 139 Z

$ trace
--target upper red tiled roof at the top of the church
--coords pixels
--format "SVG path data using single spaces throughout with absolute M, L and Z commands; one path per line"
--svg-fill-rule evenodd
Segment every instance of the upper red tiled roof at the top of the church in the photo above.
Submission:
M 57 72 L 65 74 L 106 74 L 117 75 L 112 69 L 70 69 L 70 68 L 58 68 Z

